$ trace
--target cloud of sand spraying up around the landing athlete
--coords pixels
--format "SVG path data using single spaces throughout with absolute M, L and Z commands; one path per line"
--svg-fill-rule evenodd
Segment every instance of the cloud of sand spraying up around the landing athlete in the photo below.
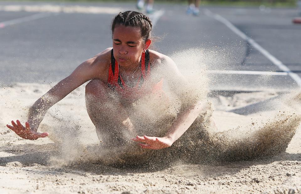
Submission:
M 244 126 L 219 131 L 212 118 L 214 103 L 208 96 L 209 87 L 218 83 L 221 75 L 211 76 L 206 71 L 227 69 L 230 61 L 225 54 L 200 48 L 175 52 L 170 56 L 177 64 L 185 82 L 179 82 L 174 74 L 164 68 L 164 64 L 153 69 L 150 80 L 157 80 L 157 75 L 163 75 L 164 93 L 147 94 L 133 102 L 127 109 L 135 131 L 129 132 L 120 126 L 114 128 L 114 123 L 112 125 L 112 122 L 105 122 L 104 119 L 100 123 L 99 127 L 108 129 L 108 126 L 111 126 L 112 131 L 119 131 L 118 138 L 123 139 L 123 143 L 107 146 L 103 141 L 99 141 L 101 138 L 98 137 L 102 134 L 97 134 L 95 126 L 87 115 L 84 86 L 50 108 L 39 129 L 39 131 L 49 132 L 50 140 L 55 142 L 58 148 L 52 152 L 50 163 L 132 165 L 150 164 L 155 161 L 170 164 L 170 161 L 182 160 L 189 163 L 216 164 L 271 157 L 285 152 L 301 122 L 300 92 L 287 93 L 276 101 L 257 107 L 262 111 L 252 114 L 250 122 Z M 262 79 L 267 80 L 268 77 Z M 40 92 L 34 93 L 35 96 L 49 89 L 43 87 L 40 88 Z M 11 101 L 18 97 L 18 92 L 18 90 L 11 90 L 11 94 L 15 95 Z M 18 104 L 24 104 L 20 101 L 22 100 L 20 99 Z M 203 102 L 206 108 L 172 147 L 155 151 L 146 150 L 130 140 L 130 137 L 135 135 L 164 136 L 177 119 L 177 115 L 198 101 Z M 28 107 L 33 102 L 34 100 L 31 99 L 25 104 Z M 107 106 L 109 108 L 109 105 Z M 272 110 L 265 112 L 265 107 L 272 107 Z M 23 112 L 26 112 L 25 110 L 28 108 L 24 108 Z M 116 135 L 116 133 L 112 134 Z M 115 136 L 111 138 L 114 139 Z

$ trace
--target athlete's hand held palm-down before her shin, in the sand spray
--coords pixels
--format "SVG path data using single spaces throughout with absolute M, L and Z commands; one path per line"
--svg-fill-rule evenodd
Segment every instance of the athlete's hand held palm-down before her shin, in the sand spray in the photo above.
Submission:
M 133 141 L 139 142 L 138 144 L 142 148 L 159 150 L 166 147 L 172 146 L 172 140 L 167 137 L 150 137 L 150 136 L 136 136 L 132 139 Z

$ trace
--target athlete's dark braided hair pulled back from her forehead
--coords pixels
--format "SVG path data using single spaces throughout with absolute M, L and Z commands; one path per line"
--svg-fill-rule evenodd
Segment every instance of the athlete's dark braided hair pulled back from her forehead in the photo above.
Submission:
M 152 28 L 151 20 L 146 15 L 136 11 L 125 11 L 117 14 L 112 23 L 112 35 L 116 25 L 137 27 L 144 41 L 149 39 Z

